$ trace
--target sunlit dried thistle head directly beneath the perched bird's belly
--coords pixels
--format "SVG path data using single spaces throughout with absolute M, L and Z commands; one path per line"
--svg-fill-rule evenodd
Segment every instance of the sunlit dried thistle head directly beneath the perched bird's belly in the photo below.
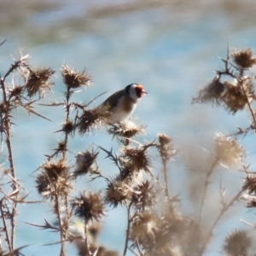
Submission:
M 118 125 L 113 125 L 113 127 L 111 127 L 108 132 L 113 136 L 119 137 L 121 140 L 124 140 L 123 137 L 130 138 L 136 137 L 140 134 L 145 134 L 143 125 L 137 125 L 129 120 L 125 120 Z

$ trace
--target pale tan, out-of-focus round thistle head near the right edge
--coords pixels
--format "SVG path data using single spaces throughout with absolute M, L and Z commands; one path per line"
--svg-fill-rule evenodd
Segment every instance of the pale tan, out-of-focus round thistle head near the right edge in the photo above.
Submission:
M 220 133 L 215 137 L 215 151 L 218 160 L 228 166 L 240 165 L 246 156 L 244 148 L 236 139 Z

